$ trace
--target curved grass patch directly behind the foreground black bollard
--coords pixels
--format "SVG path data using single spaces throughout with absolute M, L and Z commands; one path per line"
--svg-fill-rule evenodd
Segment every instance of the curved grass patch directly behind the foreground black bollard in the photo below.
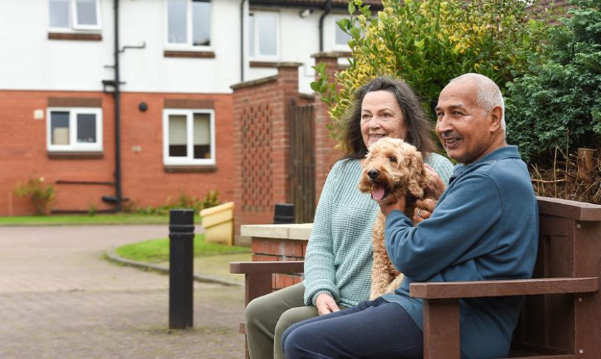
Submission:
M 115 252 L 121 257 L 138 262 L 160 263 L 169 260 L 169 239 L 151 239 L 134 244 L 120 246 Z M 228 253 L 250 253 L 250 248 L 239 246 L 223 246 L 205 242 L 205 234 L 194 237 L 194 256 L 218 255 Z

